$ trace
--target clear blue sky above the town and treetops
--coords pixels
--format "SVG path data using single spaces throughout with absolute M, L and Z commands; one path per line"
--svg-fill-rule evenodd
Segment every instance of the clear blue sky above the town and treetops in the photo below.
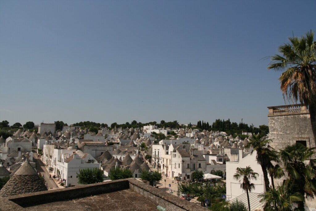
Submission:
M 0 1 L 0 121 L 268 124 L 315 1 Z

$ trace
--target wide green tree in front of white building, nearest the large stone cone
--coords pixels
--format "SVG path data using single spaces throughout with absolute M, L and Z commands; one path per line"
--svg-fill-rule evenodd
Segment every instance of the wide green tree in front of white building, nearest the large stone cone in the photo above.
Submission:
M 96 167 L 93 169 L 79 169 L 77 178 L 79 184 L 100 183 L 103 181 L 103 171 Z

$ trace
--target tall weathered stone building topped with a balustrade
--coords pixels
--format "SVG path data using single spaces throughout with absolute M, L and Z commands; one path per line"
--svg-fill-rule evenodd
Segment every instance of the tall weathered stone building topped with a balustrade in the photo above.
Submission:
M 270 146 L 277 151 L 301 143 L 315 147 L 308 108 L 304 104 L 268 107 Z

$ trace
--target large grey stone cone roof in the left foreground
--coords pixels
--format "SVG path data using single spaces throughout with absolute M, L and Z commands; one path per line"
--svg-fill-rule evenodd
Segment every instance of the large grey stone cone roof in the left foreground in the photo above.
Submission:
M 29 157 L 29 156 L 26 156 Z M 0 197 L 47 190 L 28 158 L 0 190 Z

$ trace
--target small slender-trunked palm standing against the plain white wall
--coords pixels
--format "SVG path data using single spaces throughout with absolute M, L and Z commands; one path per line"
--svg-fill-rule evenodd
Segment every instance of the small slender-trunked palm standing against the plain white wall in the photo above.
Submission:
M 247 166 L 246 168 L 238 167 L 236 169 L 236 173 L 234 174 L 234 179 L 239 180 L 239 182 L 241 183 L 240 188 L 245 190 L 247 193 L 249 211 L 250 211 L 250 201 L 249 201 L 248 191 L 255 189 L 255 185 L 253 183 L 250 183 L 250 179 L 257 180 L 257 177 L 258 177 L 258 173 L 253 172 L 250 166 Z

